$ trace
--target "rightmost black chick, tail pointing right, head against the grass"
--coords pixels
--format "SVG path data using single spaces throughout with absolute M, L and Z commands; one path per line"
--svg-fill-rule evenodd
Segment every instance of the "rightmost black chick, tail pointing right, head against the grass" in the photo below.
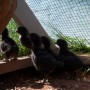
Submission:
M 76 71 L 86 68 L 82 60 L 68 49 L 68 44 L 63 39 L 58 39 L 56 44 L 60 47 L 59 56 L 64 60 L 64 70 L 70 73 L 68 78 L 75 79 Z

